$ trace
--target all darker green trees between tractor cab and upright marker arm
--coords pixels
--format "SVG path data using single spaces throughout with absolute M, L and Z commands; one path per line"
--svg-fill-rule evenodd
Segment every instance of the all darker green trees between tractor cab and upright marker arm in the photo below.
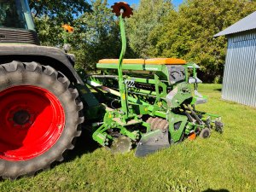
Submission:
M 34 15 L 37 15 L 35 21 L 41 44 L 61 47 L 64 32 L 61 25 L 67 23 L 74 27 L 75 31 L 68 35 L 67 41 L 72 45 L 71 52 L 76 55 L 78 69 L 92 71 L 96 69 L 98 60 L 119 57 L 119 25 L 108 8 L 107 0 L 91 1 L 90 9 L 84 1 L 52 3 L 44 0 L 31 3 Z M 59 3 L 62 3 L 60 8 L 55 8 Z M 86 6 L 82 8 L 84 4 Z M 40 6 L 43 6 L 42 10 Z M 76 9 L 67 13 L 69 9 L 66 10 L 66 6 Z

